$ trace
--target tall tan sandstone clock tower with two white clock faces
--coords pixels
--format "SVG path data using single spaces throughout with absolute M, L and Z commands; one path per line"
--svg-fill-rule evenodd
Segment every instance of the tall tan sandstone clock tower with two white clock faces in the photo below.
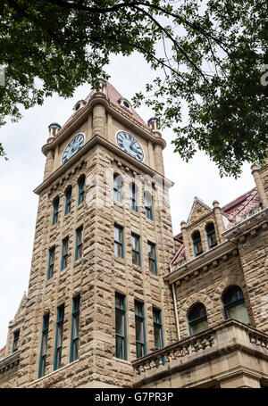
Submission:
M 176 341 L 164 146 L 105 80 L 49 126 L 13 387 L 128 387 L 133 360 Z

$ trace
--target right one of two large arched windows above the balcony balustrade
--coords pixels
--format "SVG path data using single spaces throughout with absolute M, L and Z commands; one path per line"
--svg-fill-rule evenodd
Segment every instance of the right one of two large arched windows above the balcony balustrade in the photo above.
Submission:
M 249 324 L 244 294 L 239 286 L 230 286 L 222 296 L 225 319 L 238 319 Z

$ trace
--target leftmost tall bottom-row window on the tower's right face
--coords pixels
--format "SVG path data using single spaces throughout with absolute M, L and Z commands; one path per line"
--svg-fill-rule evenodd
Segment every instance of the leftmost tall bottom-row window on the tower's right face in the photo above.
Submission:
M 116 358 L 127 360 L 125 296 L 115 294 L 115 343 Z

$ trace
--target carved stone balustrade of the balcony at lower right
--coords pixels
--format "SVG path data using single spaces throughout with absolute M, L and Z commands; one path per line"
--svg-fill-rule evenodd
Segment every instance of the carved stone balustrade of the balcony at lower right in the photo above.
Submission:
M 186 370 L 191 365 L 197 366 L 237 350 L 265 360 L 268 370 L 268 336 L 236 319 L 228 319 L 134 360 L 135 385 L 156 381 L 171 374 L 172 370 Z

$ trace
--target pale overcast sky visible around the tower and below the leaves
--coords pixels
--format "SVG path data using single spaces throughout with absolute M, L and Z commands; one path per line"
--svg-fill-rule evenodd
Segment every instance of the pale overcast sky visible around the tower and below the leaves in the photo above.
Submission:
M 110 83 L 122 96 L 131 100 L 136 91 L 145 87 L 152 77 L 141 57 L 116 57 L 110 64 Z M 0 349 L 6 342 L 9 321 L 17 311 L 24 291 L 28 291 L 29 269 L 38 195 L 33 189 L 43 180 L 46 158 L 41 153 L 48 137 L 47 126 L 56 121 L 61 125 L 71 116 L 74 104 L 90 92 L 88 86 L 77 89 L 71 99 L 57 95 L 23 112 L 18 123 L 8 123 L 0 129 L 0 141 L 9 160 L 0 159 Z M 147 107 L 137 110 L 147 122 L 154 116 Z M 189 163 L 182 162 L 172 152 L 172 130 L 163 131 L 167 147 L 163 152 L 165 176 L 175 185 L 170 192 L 174 235 L 180 232 L 180 221 L 188 219 L 194 197 L 198 196 L 212 207 L 234 200 L 255 186 L 249 165 L 243 167 L 239 180 L 220 178 L 213 162 L 201 153 Z

